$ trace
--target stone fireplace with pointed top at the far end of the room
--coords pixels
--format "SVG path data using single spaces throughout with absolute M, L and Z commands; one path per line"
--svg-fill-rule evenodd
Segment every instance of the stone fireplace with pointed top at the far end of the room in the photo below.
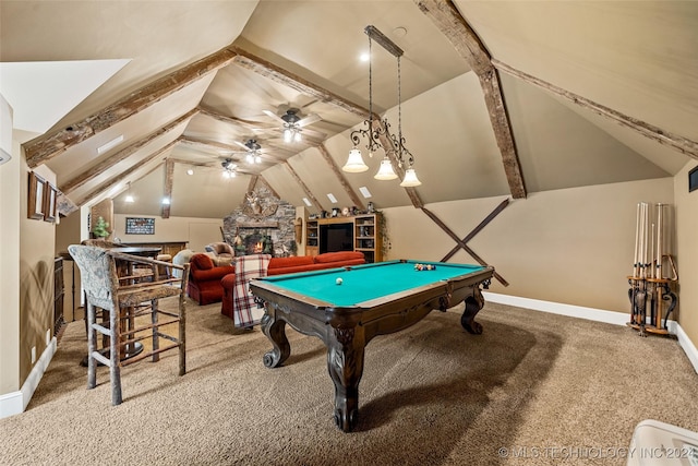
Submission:
M 236 255 L 296 255 L 296 207 L 275 198 L 266 188 L 248 193 L 242 207 L 222 220 L 222 234 Z M 300 239 L 299 239 L 300 240 Z

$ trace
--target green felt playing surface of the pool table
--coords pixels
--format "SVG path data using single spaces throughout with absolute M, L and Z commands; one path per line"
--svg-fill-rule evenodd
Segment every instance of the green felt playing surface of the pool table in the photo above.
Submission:
M 430 264 L 434 270 L 417 271 L 416 264 Z M 263 278 L 290 292 L 325 301 L 332 307 L 351 307 L 385 298 L 437 282 L 453 279 L 484 270 L 480 265 L 447 264 L 425 261 L 388 261 Z M 341 278 L 338 285 L 337 278 Z

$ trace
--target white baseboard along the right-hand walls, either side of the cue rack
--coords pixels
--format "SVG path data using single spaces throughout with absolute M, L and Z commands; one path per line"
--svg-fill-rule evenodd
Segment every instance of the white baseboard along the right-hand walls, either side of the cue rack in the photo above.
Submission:
M 497 302 L 500 304 L 516 306 L 518 308 L 532 309 L 534 311 L 550 312 L 553 314 L 567 315 L 570 318 L 587 319 L 590 321 L 605 322 L 614 325 L 625 325 L 629 315 L 623 312 L 605 311 L 602 309 L 585 308 L 581 306 L 563 304 L 559 302 L 541 301 L 538 299 L 519 298 L 517 296 L 498 295 L 496 292 L 483 291 L 485 301 Z M 682 347 L 688 360 L 698 372 L 698 349 L 696 345 L 688 338 L 686 332 L 678 325 L 676 321 L 666 323 L 669 333 L 676 335 L 678 345 Z

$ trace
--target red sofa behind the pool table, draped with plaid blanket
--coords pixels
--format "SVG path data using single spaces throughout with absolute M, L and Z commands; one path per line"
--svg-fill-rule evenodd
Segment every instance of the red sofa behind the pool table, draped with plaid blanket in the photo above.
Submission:
M 297 255 L 291 258 L 272 258 L 267 267 L 267 275 L 294 274 L 297 272 L 320 271 L 323 268 L 344 267 L 347 265 L 365 264 L 363 252 L 338 251 L 325 252 L 313 256 Z M 222 286 L 222 306 L 220 313 L 232 319 L 232 289 L 236 284 L 234 271 L 220 280 Z

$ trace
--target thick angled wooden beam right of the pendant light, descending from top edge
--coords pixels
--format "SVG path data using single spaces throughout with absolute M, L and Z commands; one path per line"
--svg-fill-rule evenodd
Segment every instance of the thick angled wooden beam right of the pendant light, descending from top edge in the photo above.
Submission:
M 414 0 L 414 3 L 450 40 L 456 51 L 480 79 L 494 136 L 502 153 L 502 163 L 509 183 L 509 191 L 514 199 L 526 198 L 526 184 L 514 144 L 512 124 L 506 112 L 500 77 L 492 64 L 490 53 L 485 50 L 476 32 L 460 15 L 453 1 Z

